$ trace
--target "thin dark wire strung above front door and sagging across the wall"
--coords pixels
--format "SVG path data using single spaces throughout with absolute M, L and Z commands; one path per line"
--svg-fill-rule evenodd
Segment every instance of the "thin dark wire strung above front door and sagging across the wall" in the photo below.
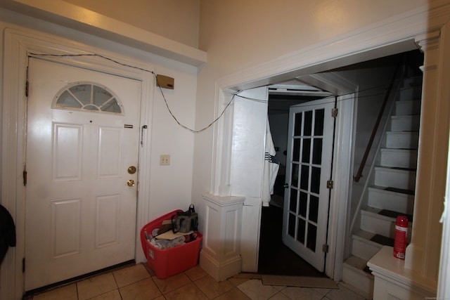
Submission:
M 184 129 L 186 129 L 186 130 L 188 130 L 188 131 L 191 131 L 192 133 L 200 133 L 200 132 L 202 132 L 202 131 L 205 131 L 206 129 L 208 129 L 208 128 L 210 128 L 212 125 L 214 125 L 216 122 L 218 122 L 219 119 L 221 119 L 221 117 L 224 115 L 224 113 L 226 112 L 226 110 L 229 108 L 229 106 L 231 105 L 231 103 L 233 103 L 234 98 L 235 98 L 236 96 L 239 96 L 239 93 L 241 92 L 241 91 L 237 91 L 236 93 L 233 93 L 233 96 L 231 97 L 231 100 L 229 100 L 229 103 L 227 103 L 227 104 L 225 105 L 224 109 L 221 111 L 221 113 L 219 114 L 219 116 L 216 117 L 210 124 L 207 124 L 207 126 L 203 127 L 202 129 L 195 130 L 195 129 L 189 128 L 188 126 L 186 126 L 186 125 L 184 125 L 184 124 L 181 124 L 181 122 L 179 122 L 179 119 L 176 118 L 176 116 L 174 115 L 174 113 L 172 112 L 172 110 L 171 110 L 170 107 L 169 107 L 169 103 L 167 103 L 167 99 L 166 99 L 166 97 L 165 97 L 165 93 L 164 93 L 164 91 L 162 91 L 162 88 L 161 88 L 161 86 L 160 86 L 160 84 L 159 84 L 159 82 L 158 82 L 157 74 L 156 74 L 155 72 L 153 72 L 152 70 L 147 70 L 147 69 L 144 69 L 144 68 L 142 68 L 142 67 L 136 67 L 136 66 L 134 66 L 134 65 L 129 65 L 129 64 L 126 64 L 126 63 L 121 63 L 120 61 L 117 61 L 117 60 L 115 60 L 115 59 L 113 59 L 113 58 L 108 58 L 107 56 L 103 56 L 103 55 L 101 55 L 101 54 L 96 54 L 96 53 L 82 53 L 82 54 L 48 54 L 48 53 L 31 53 L 31 52 L 28 53 L 28 58 L 29 58 L 29 59 L 30 59 L 31 57 L 44 57 L 44 56 L 51 56 L 51 57 L 67 57 L 67 58 L 70 58 L 70 57 L 80 57 L 80 56 L 95 56 L 95 57 L 98 57 L 98 58 L 103 58 L 103 59 L 105 59 L 105 60 L 109 60 L 109 61 L 111 61 L 111 62 L 113 62 L 113 63 L 116 63 L 117 65 L 122 65 L 122 66 L 124 66 L 124 67 L 131 67 L 131 68 L 134 68 L 134 69 L 136 69 L 136 70 L 141 70 L 141 71 L 143 71 L 143 72 L 149 72 L 149 73 L 153 74 L 153 76 L 155 77 L 157 86 L 159 87 L 159 90 L 160 90 L 160 93 L 161 93 L 161 95 L 162 95 L 162 98 L 163 98 L 163 100 L 164 100 L 164 103 L 165 103 L 165 105 L 166 105 L 166 107 L 167 107 L 167 110 L 169 111 L 169 114 L 170 114 L 171 117 L 175 120 L 176 124 L 179 124 L 179 126 L 183 127 Z M 368 88 L 368 89 L 359 90 L 358 92 L 361 93 L 361 92 L 364 92 L 364 91 L 370 91 L 370 90 L 372 90 L 372 89 L 381 89 L 381 88 L 383 88 L 383 86 L 373 86 L 373 87 Z M 354 92 L 351 92 L 351 93 L 348 93 L 348 94 L 345 94 L 345 95 L 340 95 L 340 96 L 346 96 L 346 95 L 350 95 L 350 94 L 352 94 L 352 93 L 354 93 Z M 373 95 L 366 95 L 366 96 L 361 96 L 361 95 L 359 95 L 358 98 L 364 98 L 364 97 L 369 97 L 369 96 L 377 96 L 377 95 L 381 95 L 381 93 L 376 93 L 376 94 L 373 94 Z M 268 102 L 268 100 L 255 99 L 255 98 L 248 98 L 248 97 L 245 97 L 245 96 L 239 96 L 239 97 L 240 97 L 240 98 L 243 98 L 243 99 L 246 99 L 246 100 L 255 101 L 255 102 L 258 102 L 258 103 L 267 103 L 267 102 Z

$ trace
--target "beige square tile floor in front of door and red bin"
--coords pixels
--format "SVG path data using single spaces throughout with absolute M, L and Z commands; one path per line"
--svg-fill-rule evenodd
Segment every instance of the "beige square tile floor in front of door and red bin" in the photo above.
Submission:
M 140 299 L 364 299 L 340 284 L 339 289 L 262 285 L 259 275 L 236 275 L 216 282 L 200 266 L 166 279 L 157 278 L 145 264 L 137 264 L 56 287 L 33 300 Z

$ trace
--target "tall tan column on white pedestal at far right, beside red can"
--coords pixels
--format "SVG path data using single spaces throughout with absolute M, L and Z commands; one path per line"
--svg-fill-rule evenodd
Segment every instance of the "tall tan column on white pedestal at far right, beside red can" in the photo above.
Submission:
M 411 243 L 405 260 L 383 247 L 368 261 L 373 299 L 436 299 L 449 136 L 450 27 L 416 37 L 425 53 L 420 112 L 420 145 Z M 434 134 L 430 134 L 433 133 Z M 435 139 L 433 136 L 442 136 Z M 445 138 L 444 138 L 445 137 Z

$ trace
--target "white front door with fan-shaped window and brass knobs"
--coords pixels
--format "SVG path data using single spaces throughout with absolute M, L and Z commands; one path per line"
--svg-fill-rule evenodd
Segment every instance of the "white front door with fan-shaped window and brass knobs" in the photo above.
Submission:
M 25 290 L 134 259 L 141 103 L 135 79 L 28 72 Z

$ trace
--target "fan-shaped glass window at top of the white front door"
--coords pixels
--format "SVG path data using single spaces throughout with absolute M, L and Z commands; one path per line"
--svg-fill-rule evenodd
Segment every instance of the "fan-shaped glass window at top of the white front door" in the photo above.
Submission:
M 123 114 L 122 104 L 113 92 L 94 82 L 77 82 L 65 86 L 56 94 L 53 108 Z

